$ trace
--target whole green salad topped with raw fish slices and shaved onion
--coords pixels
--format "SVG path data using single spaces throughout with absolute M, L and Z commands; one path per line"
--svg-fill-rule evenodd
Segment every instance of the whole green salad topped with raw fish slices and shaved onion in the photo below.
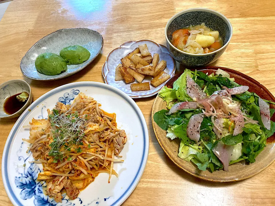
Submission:
M 269 105 L 275 103 L 248 89 L 220 69 L 210 75 L 186 69 L 173 88 L 159 92 L 168 110 L 156 112 L 154 121 L 167 138 L 180 139 L 178 157 L 200 170 L 254 163 L 275 132 Z

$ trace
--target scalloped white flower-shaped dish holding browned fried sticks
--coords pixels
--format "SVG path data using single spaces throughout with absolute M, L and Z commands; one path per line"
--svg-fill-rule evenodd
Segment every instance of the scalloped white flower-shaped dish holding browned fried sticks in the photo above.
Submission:
M 150 97 L 155 94 L 158 94 L 158 91 L 162 88 L 166 82 L 161 84 L 158 87 L 153 87 L 150 84 L 150 90 L 148 91 L 139 91 L 139 92 L 132 92 L 130 88 L 130 83 L 126 84 L 124 80 L 121 81 L 115 81 L 115 68 L 119 63 L 121 63 L 120 59 L 125 57 L 127 54 L 129 54 L 131 51 L 133 51 L 135 48 L 138 47 L 140 44 L 147 44 L 147 47 L 153 56 L 155 53 L 158 53 L 160 56 L 160 61 L 165 60 L 167 63 L 167 67 L 164 70 L 167 74 L 169 74 L 171 77 L 174 76 L 175 70 L 176 70 L 176 61 L 172 58 L 172 56 L 169 54 L 168 49 L 166 46 L 162 44 L 158 44 L 152 40 L 144 39 L 140 41 L 127 41 L 123 43 L 120 47 L 115 48 L 113 51 L 109 53 L 107 56 L 106 62 L 103 64 L 102 67 L 102 75 L 104 77 L 105 83 L 110 84 L 121 91 L 128 94 L 131 98 L 143 98 L 143 97 Z M 147 76 L 143 80 L 143 82 L 150 82 L 152 80 L 152 77 Z M 138 83 L 137 81 L 132 83 Z

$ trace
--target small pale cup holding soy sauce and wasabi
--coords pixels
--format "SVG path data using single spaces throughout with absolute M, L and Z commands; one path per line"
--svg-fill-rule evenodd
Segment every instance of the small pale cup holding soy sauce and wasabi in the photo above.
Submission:
M 24 110 L 30 106 L 30 104 L 32 103 L 32 90 L 30 85 L 25 82 L 24 80 L 9 80 L 7 82 L 4 82 L 3 84 L 0 85 L 0 118 L 7 118 L 7 119 L 11 119 L 11 118 L 15 118 L 20 116 Z M 19 94 L 22 92 L 27 92 L 28 94 L 30 94 L 27 102 L 25 103 L 25 105 L 18 110 L 17 112 L 13 113 L 13 114 L 6 114 L 4 112 L 4 102 L 6 98 L 9 98 L 10 96 L 13 96 L 15 94 Z

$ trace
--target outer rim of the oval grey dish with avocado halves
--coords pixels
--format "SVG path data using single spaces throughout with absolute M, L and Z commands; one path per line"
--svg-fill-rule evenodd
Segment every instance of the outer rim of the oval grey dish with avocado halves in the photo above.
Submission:
M 46 78 L 34 78 L 34 77 L 28 76 L 28 74 L 26 74 L 26 73 L 22 70 L 22 61 L 23 61 L 23 59 L 25 58 L 25 56 L 32 50 L 32 48 L 33 48 L 38 42 L 40 42 L 42 39 L 46 38 L 47 36 L 52 35 L 53 33 L 56 33 L 56 32 L 62 31 L 62 30 L 65 31 L 65 30 L 73 30 L 73 29 L 75 29 L 75 30 L 86 29 L 86 30 L 89 30 L 89 31 L 94 31 L 94 32 L 97 33 L 97 34 L 99 35 L 99 37 L 101 38 L 101 48 L 99 49 L 99 51 L 97 52 L 97 54 L 96 54 L 91 60 L 89 60 L 89 61 L 87 60 L 86 62 L 83 62 L 83 63 L 82 63 L 83 65 L 81 64 L 81 66 L 80 66 L 78 69 L 76 69 L 76 70 L 74 70 L 74 71 L 72 71 L 72 72 L 68 72 L 68 73 L 61 73 L 61 74 L 60 74 L 59 76 L 57 76 L 57 77 L 52 77 L 52 76 L 48 75 L 48 77 L 46 77 Z M 52 81 L 52 80 L 63 79 L 63 78 L 65 78 L 65 77 L 71 76 L 71 75 L 73 75 L 73 74 L 75 74 L 75 73 L 81 71 L 82 69 L 84 69 L 85 67 L 87 67 L 89 64 L 91 64 L 91 62 L 93 62 L 93 60 L 95 60 L 95 58 L 97 58 L 97 56 L 98 56 L 99 53 L 101 52 L 102 47 L 103 47 L 103 44 L 104 44 L 104 41 L 103 41 L 102 35 L 101 35 L 98 31 L 95 31 L 95 30 L 93 30 L 93 29 L 88 29 L 88 28 L 83 28 L 83 27 L 58 29 L 58 30 L 56 30 L 56 31 L 54 31 L 54 32 L 52 32 L 52 33 L 49 33 L 48 35 L 42 37 L 42 38 L 39 39 L 34 45 L 32 45 L 32 47 L 30 47 L 30 49 L 26 52 L 26 54 L 25 54 L 25 55 L 23 56 L 23 58 L 21 59 L 21 62 L 20 62 L 20 70 L 21 70 L 22 74 L 23 74 L 25 77 L 27 77 L 27 78 L 29 78 L 29 79 L 33 79 L 33 80 L 39 80 L 39 81 Z M 79 65 L 80 65 L 80 64 L 79 64 Z

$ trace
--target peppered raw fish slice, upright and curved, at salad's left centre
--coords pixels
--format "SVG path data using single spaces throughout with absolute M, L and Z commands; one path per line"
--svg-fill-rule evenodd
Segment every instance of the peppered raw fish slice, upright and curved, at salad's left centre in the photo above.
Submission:
M 199 142 L 200 139 L 200 128 L 201 128 L 201 122 L 203 121 L 203 114 L 195 114 L 193 115 L 186 128 L 187 136 L 194 140 L 196 143 Z

